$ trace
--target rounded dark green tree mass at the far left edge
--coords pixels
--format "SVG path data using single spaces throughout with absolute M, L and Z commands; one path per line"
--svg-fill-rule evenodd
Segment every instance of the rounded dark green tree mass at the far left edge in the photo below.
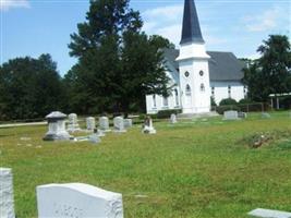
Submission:
M 0 68 L 0 119 L 43 118 L 61 105 L 61 78 L 50 55 L 16 58 Z

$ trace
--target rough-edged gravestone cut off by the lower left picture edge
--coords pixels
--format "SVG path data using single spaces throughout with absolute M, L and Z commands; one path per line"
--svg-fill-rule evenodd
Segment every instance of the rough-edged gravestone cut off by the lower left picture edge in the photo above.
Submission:
M 13 178 L 9 168 L 0 168 L 0 217 L 14 218 Z

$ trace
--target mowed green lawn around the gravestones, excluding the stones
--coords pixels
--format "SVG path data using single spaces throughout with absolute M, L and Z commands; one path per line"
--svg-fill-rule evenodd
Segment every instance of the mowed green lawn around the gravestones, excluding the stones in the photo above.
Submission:
M 291 136 L 258 149 L 240 143 L 256 133 L 291 131 L 287 112 L 155 126 L 156 135 L 144 135 L 136 125 L 126 134 L 107 134 L 99 145 L 43 142 L 46 126 L 0 129 L 0 166 L 13 169 L 17 217 L 37 217 L 37 185 L 69 182 L 122 193 L 126 218 L 291 210 Z

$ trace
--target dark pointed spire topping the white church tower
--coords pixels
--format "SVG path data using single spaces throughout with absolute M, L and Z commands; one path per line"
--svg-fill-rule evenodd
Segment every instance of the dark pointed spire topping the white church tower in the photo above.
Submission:
M 181 43 L 204 43 L 194 0 L 185 0 Z

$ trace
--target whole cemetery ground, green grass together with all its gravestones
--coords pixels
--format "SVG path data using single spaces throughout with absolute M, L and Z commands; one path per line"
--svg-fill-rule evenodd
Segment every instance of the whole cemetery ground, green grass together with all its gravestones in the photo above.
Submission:
M 52 112 L 48 125 L 1 128 L 0 207 L 14 204 L 8 217 L 290 217 L 289 111 L 230 114 L 124 124 Z

